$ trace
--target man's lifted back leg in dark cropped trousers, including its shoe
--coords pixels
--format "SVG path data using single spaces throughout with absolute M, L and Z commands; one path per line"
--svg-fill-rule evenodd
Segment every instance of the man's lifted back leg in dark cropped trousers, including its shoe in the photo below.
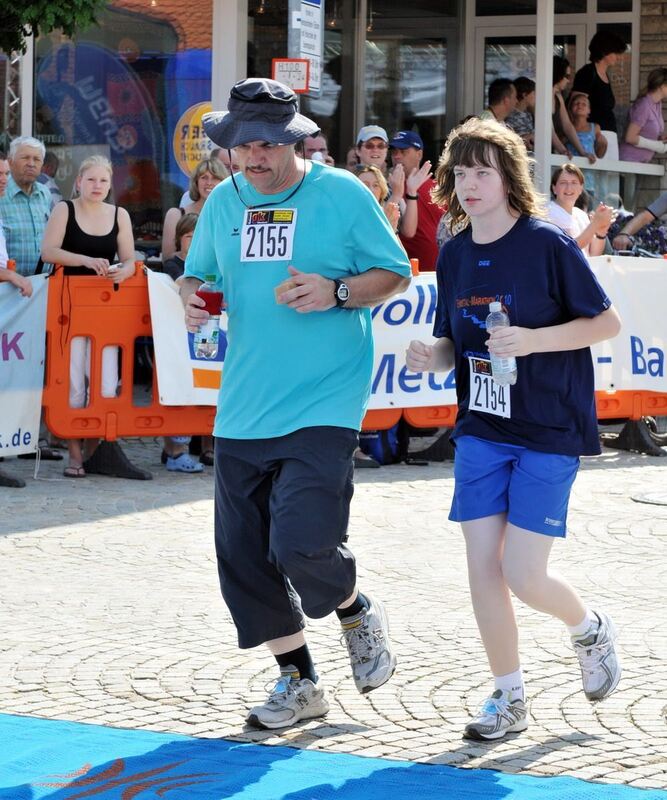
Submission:
M 271 558 L 301 598 L 305 613 L 336 611 L 360 692 L 393 674 L 384 607 L 356 589 L 354 556 L 345 545 L 353 494 L 355 431 L 296 431 L 281 450 L 271 495 Z

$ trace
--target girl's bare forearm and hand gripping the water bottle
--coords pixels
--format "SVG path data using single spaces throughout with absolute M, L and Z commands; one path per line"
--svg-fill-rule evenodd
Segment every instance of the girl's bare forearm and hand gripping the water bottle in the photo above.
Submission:
M 501 358 L 531 353 L 581 350 L 613 339 L 621 330 L 621 319 L 612 306 L 596 317 L 579 317 L 548 328 L 499 328 L 487 340 L 489 350 Z

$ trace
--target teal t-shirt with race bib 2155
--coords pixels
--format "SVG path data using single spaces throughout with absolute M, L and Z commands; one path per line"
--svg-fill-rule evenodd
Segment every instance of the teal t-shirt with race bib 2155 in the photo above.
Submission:
M 210 194 L 197 222 L 185 277 L 219 275 L 227 304 L 227 352 L 214 434 L 284 436 L 316 425 L 358 430 L 373 368 L 369 309 L 301 314 L 278 305 L 288 265 L 327 278 L 381 268 L 410 275 L 384 212 L 352 174 L 309 162 L 294 187 L 262 195 L 240 174 Z M 332 290 L 333 291 L 333 290 Z

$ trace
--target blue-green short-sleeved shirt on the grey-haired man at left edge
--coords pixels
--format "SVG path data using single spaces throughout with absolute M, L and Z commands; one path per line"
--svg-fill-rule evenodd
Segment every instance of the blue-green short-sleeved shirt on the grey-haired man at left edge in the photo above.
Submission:
M 42 236 L 51 213 L 51 193 L 35 181 L 28 195 L 10 175 L 0 197 L 0 219 L 7 241 L 7 254 L 16 261 L 21 275 L 34 275 L 39 263 Z

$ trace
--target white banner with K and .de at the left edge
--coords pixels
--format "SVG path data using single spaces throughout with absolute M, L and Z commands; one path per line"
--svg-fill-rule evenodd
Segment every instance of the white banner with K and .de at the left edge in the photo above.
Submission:
M 0 283 L 0 455 L 34 453 L 44 386 L 46 275 L 30 278 L 32 296 Z

